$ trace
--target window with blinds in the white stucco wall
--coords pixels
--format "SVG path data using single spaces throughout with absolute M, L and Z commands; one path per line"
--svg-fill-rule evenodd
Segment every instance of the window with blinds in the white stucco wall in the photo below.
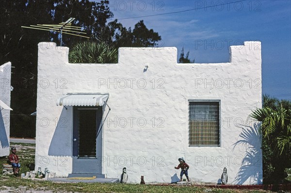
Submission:
M 220 146 L 219 105 L 219 101 L 189 101 L 190 146 Z

